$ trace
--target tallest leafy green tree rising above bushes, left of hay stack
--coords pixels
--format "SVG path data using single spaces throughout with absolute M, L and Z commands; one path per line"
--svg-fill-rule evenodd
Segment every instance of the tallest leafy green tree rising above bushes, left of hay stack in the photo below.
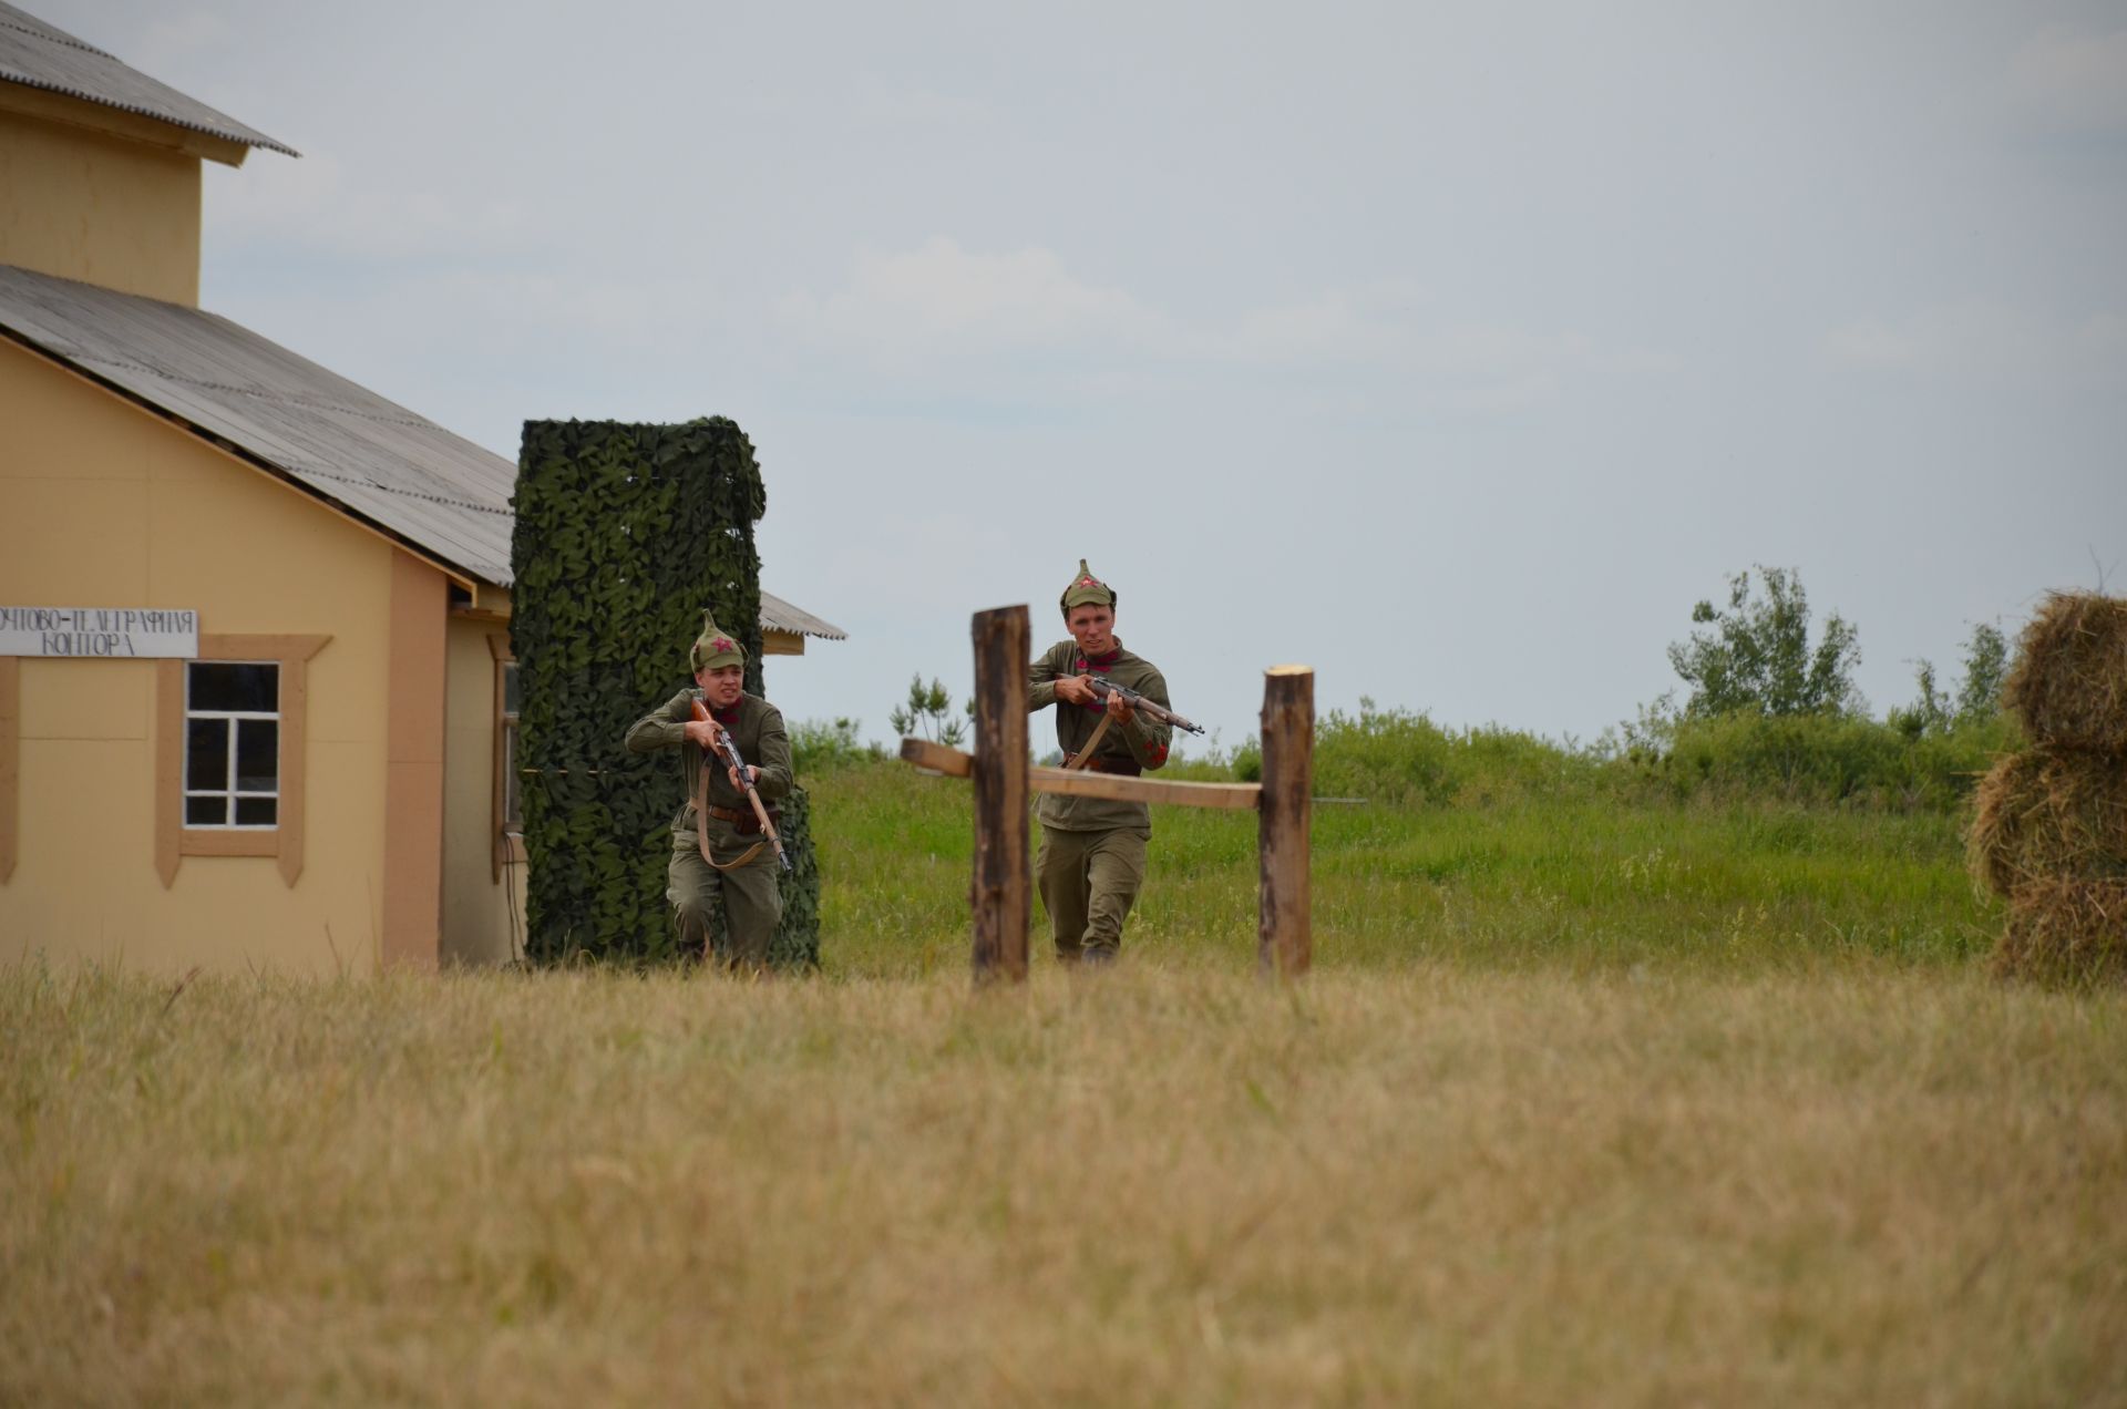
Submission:
M 1859 709 L 1853 670 L 1861 664 L 1855 628 L 1836 613 L 1810 645 L 1810 598 L 1802 575 L 1759 566 L 1761 598 L 1751 594 L 1751 573 L 1729 579 L 1725 611 L 1712 602 L 1691 609 L 1710 630 L 1670 645 L 1670 664 L 1691 685 L 1685 715 L 1814 715 Z

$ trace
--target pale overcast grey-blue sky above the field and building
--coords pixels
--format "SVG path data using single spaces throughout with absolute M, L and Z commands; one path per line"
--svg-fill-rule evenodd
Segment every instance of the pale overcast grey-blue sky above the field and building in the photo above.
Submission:
M 304 153 L 204 306 L 510 460 L 734 417 L 791 717 L 1081 556 L 1229 745 L 1278 662 L 1593 736 L 1759 562 L 1878 713 L 2127 587 L 2116 0 L 17 2 Z

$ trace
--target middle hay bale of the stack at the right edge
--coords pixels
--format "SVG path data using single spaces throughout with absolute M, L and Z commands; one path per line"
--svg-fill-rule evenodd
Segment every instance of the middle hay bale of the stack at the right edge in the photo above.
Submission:
M 2127 758 L 2010 753 L 1980 781 L 1976 802 L 1965 864 L 1997 896 L 2042 877 L 2127 881 Z

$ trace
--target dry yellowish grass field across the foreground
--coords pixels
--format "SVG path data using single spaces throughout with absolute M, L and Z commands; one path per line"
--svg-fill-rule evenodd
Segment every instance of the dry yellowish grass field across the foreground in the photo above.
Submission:
M 0 1403 L 2127 1400 L 2127 1007 L 0 971 Z

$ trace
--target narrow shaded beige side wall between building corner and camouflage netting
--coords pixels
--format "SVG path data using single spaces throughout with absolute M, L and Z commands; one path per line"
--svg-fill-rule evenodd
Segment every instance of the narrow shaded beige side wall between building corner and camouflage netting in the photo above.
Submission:
M 523 951 L 521 847 L 502 847 L 496 817 L 496 662 L 508 626 L 453 617 L 442 753 L 442 962 L 504 964 Z

